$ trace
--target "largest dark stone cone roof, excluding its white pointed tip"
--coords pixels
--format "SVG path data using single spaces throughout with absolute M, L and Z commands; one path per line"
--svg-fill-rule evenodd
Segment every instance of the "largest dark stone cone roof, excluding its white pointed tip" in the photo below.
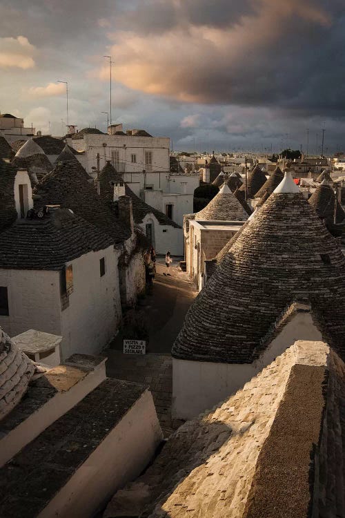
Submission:
M 292 300 L 322 313 L 345 358 L 345 257 L 302 193 L 273 193 L 190 307 L 172 347 L 186 360 L 252 363 Z

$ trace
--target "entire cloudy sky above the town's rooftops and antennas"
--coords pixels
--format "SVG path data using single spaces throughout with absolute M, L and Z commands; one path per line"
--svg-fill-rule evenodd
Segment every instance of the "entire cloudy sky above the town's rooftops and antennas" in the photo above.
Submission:
M 0 111 L 199 151 L 345 151 L 344 0 L 0 0 Z M 63 121 L 61 122 L 61 119 Z M 50 123 L 50 126 L 49 126 Z

